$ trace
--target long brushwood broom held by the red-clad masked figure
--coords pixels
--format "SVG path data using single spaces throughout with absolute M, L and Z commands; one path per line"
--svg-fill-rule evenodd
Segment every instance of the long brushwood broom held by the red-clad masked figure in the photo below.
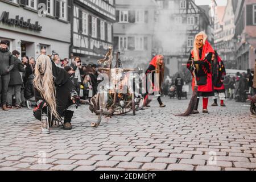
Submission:
M 193 61 L 192 61 L 192 64 L 193 64 Z M 188 109 L 185 111 L 185 113 L 179 114 L 179 115 L 176 115 L 176 116 L 186 117 L 188 115 L 191 115 L 194 108 L 195 108 L 195 105 L 196 105 L 196 102 L 197 102 L 197 90 L 198 90 L 195 70 L 196 69 L 194 67 L 192 74 L 193 74 L 193 77 L 194 77 L 194 80 L 195 80 L 195 86 L 194 86 L 194 89 L 193 89 L 191 100 L 188 104 Z

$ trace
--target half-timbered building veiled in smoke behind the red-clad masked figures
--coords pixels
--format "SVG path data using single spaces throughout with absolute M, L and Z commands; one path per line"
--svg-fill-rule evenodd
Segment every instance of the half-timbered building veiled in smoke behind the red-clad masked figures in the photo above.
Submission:
M 169 74 L 174 75 L 188 60 L 197 33 L 205 31 L 213 42 L 210 9 L 204 10 L 192 0 L 156 0 L 156 3 L 153 53 L 164 55 Z

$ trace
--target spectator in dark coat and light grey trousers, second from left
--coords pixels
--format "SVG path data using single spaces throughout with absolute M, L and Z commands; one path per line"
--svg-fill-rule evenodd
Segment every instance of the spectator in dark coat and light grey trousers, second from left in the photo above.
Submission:
M 8 87 L 8 93 L 7 93 L 7 107 L 9 109 L 12 108 L 13 105 L 13 94 L 15 95 L 16 101 L 15 101 L 15 107 L 16 109 L 20 109 L 20 104 L 22 103 L 21 101 L 21 96 L 20 96 L 20 89 L 22 88 L 22 77 L 20 75 L 20 72 L 24 73 L 24 65 L 22 62 L 19 60 L 19 51 L 13 51 L 13 56 L 14 56 L 14 68 L 10 72 L 10 82 L 9 82 L 9 87 Z

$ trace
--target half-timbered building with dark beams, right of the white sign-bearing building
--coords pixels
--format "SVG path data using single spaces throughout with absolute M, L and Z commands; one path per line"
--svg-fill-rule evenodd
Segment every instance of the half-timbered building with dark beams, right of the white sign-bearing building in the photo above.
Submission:
M 74 0 L 71 55 L 82 63 L 97 63 L 113 46 L 113 0 Z

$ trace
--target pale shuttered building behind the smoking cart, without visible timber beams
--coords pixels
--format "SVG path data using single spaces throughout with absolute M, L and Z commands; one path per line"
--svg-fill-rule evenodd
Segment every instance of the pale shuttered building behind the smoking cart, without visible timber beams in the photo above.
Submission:
M 154 0 L 115 0 L 114 51 L 121 53 L 123 66 L 146 69 L 152 57 Z

